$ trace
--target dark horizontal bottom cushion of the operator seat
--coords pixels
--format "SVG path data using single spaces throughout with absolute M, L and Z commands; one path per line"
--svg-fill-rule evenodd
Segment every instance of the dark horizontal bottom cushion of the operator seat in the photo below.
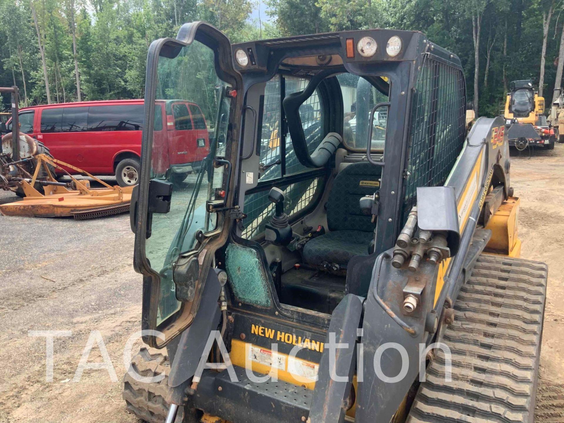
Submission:
M 303 247 L 302 257 L 310 265 L 322 262 L 337 263 L 346 268 L 354 255 L 368 255 L 368 245 L 374 232 L 334 231 L 308 241 Z

